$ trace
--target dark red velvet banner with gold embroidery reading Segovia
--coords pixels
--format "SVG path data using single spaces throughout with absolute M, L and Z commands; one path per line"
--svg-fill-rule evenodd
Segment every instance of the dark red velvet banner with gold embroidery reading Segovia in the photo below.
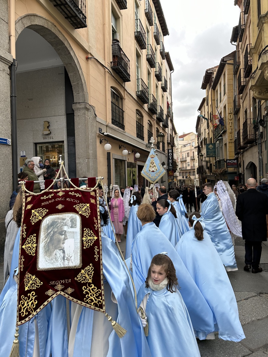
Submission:
M 17 324 L 61 294 L 105 312 L 98 189 L 25 192 Z

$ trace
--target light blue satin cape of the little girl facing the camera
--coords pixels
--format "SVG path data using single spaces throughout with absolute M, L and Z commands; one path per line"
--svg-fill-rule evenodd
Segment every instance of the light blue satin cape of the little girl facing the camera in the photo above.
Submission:
M 182 296 L 166 288 L 140 287 L 138 304 L 150 293 L 145 315 L 149 324 L 148 345 L 153 357 L 200 357 L 192 322 Z

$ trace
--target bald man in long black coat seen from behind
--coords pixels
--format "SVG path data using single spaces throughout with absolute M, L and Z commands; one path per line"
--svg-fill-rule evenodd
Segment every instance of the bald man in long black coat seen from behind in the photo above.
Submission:
M 247 191 L 237 196 L 235 214 L 242 222 L 242 237 L 245 240 L 244 270 L 259 273 L 262 241 L 267 241 L 266 215 L 268 214 L 268 197 L 256 190 L 254 178 L 247 181 Z

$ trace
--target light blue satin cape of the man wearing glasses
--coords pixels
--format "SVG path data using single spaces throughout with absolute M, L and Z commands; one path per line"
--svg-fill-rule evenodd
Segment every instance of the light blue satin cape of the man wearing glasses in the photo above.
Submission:
M 205 230 L 217 249 L 223 264 L 229 267 L 230 270 L 237 270 L 232 238 L 220 211 L 215 193 L 208 195 L 207 199 L 202 203 L 200 215 L 204 217 Z

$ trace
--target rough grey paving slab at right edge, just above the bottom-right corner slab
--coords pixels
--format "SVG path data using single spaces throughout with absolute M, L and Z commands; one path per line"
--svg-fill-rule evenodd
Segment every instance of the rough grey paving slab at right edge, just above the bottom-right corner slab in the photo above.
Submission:
M 237 303 L 239 319 L 242 325 L 268 316 L 267 300 L 260 296 Z M 268 334 L 267 334 L 268 336 Z

